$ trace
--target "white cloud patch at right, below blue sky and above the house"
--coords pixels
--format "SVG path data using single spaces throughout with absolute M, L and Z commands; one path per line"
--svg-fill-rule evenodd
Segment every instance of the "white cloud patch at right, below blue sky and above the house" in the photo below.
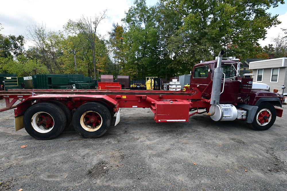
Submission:
M 266 38 L 264 40 L 260 39 L 258 41 L 261 46 L 267 46 L 268 44 L 272 43 L 274 44 L 274 42 L 272 42 L 273 38 L 277 37 L 278 34 L 284 35 L 284 31 L 282 29 L 287 29 L 287 12 L 283 15 L 279 15 L 278 20 L 281 21 L 281 24 L 267 29 Z

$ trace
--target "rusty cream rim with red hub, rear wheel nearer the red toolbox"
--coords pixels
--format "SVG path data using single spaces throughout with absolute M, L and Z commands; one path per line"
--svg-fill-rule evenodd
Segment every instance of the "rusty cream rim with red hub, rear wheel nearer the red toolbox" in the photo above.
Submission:
M 80 123 L 83 129 L 93 132 L 100 129 L 103 120 L 99 113 L 95 111 L 87 111 L 81 116 Z

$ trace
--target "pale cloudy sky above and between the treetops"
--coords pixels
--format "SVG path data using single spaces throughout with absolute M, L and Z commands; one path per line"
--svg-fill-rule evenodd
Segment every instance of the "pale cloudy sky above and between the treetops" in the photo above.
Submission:
M 134 0 L 9 0 L 0 2 L 0 23 L 4 35 L 24 35 L 26 37 L 26 27 L 33 23 L 44 23 L 52 31 L 63 30 L 63 25 L 69 19 L 77 20 L 83 15 L 95 16 L 107 9 L 108 18 L 98 26 L 98 34 L 107 38 L 107 32 L 112 29 L 113 23 L 122 23 L 125 12 L 133 5 Z M 156 4 L 158 0 L 146 0 L 148 6 Z M 5 7 L 5 8 L 3 8 Z M 278 14 L 278 19 L 282 22 L 276 27 L 267 29 L 265 40 L 259 40 L 261 46 L 272 43 L 272 38 L 278 34 L 284 34 L 281 28 L 287 29 L 287 5 L 279 5 L 269 9 L 272 15 Z M 32 46 L 32 42 L 26 42 L 25 48 Z

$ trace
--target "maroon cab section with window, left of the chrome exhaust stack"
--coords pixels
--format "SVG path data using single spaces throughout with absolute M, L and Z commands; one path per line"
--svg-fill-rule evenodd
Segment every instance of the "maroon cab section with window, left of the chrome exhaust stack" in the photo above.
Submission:
M 193 68 L 190 87 L 198 88 L 200 92 L 203 92 L 211 81 L 210 64 L 197 66 Z

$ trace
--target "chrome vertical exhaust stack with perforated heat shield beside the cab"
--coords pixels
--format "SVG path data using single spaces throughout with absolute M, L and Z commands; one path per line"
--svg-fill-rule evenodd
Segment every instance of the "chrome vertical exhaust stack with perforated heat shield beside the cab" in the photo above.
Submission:
M 224 54 L 224 51 L 220 51 L 217 57 L 217 66 L 214 68 L 213 72 L 213 82 L 212 82 L 212 91 L 211 91 L 211 99 L 210 104 L 212 105 L 210 107 L 209 113 L 205 113 L 206 116 L 212 116 L 215 113 L 216 105 L 219 104 L 220 99 L 220 92 L 221 92 L 221 80 L 222 80 L 222 73 L 223 68 L 221 67 L 221 61 L 222 56 Z

